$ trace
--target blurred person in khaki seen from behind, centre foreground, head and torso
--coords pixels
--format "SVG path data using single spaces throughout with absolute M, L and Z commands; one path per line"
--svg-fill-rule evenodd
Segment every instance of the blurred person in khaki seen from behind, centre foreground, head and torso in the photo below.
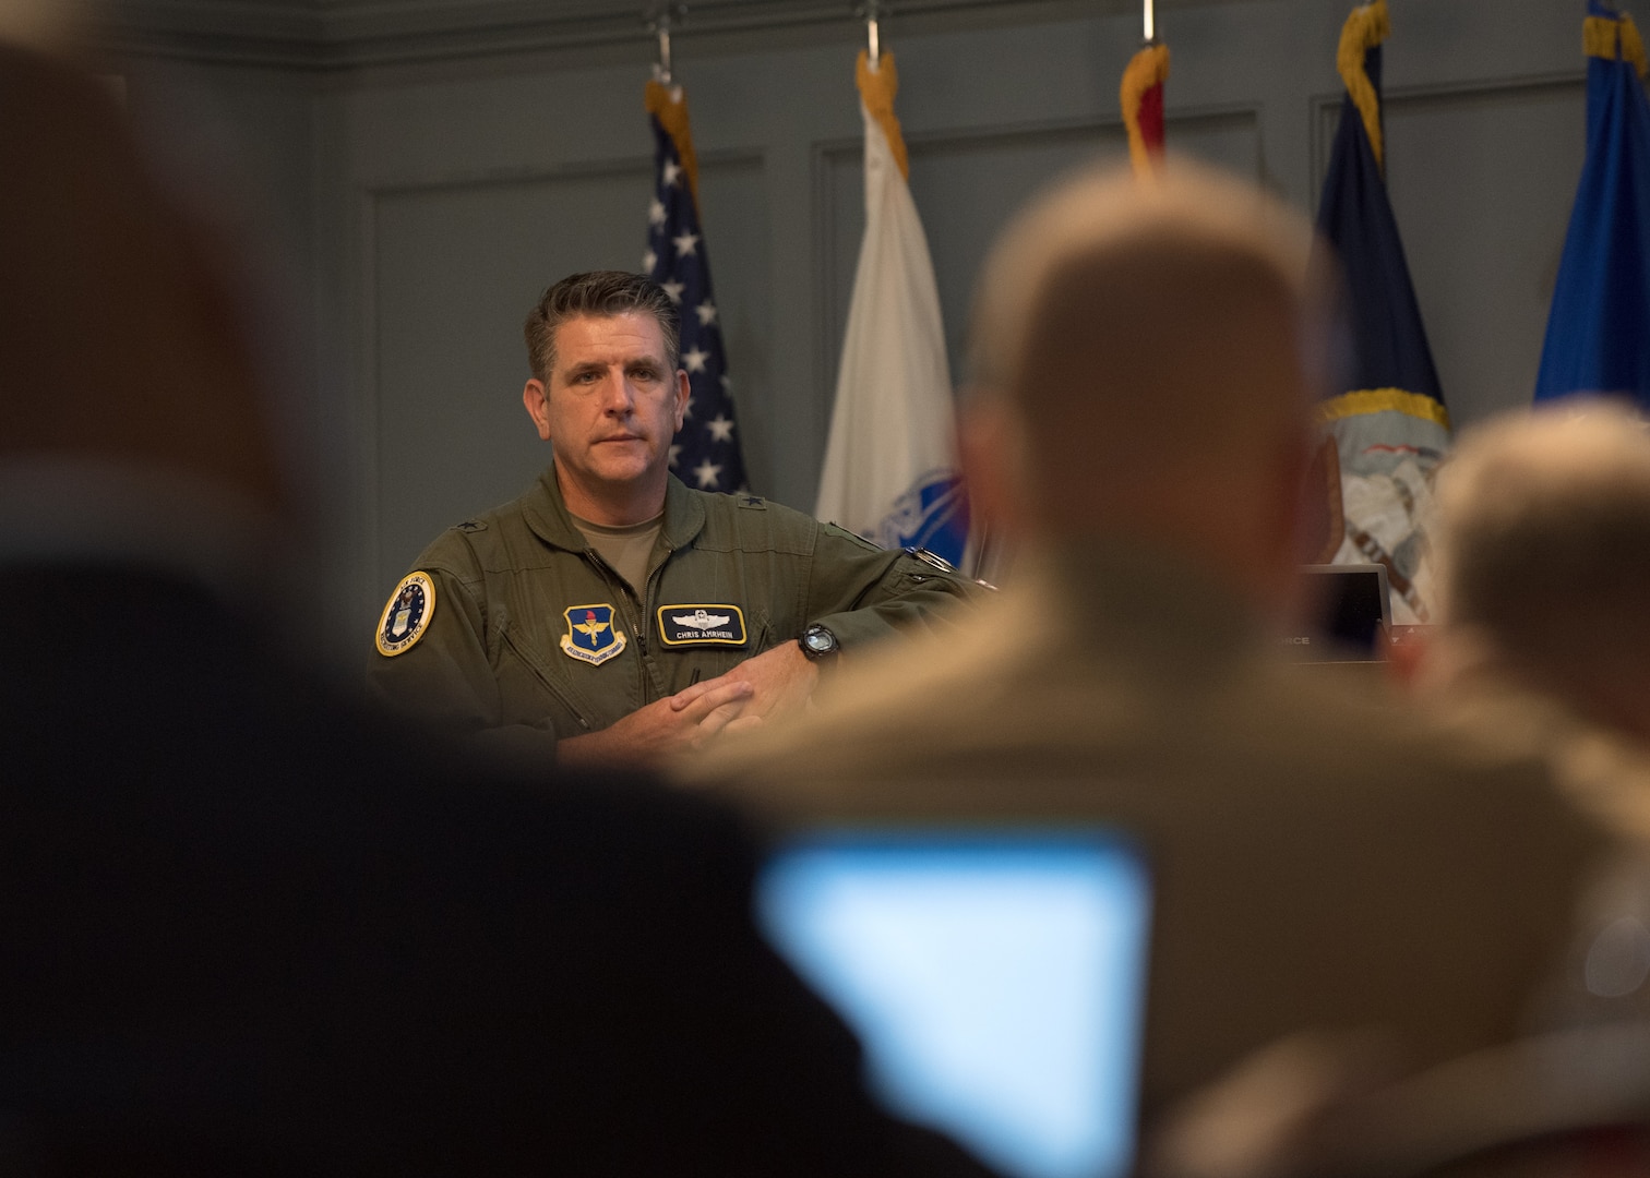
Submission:
M 1046 559 L 703 770 L 792 827 L 1148 848 L 1142 1124 L 1302 1028 L 1381 1028 L 1422 1063 L 1502 1041 L 1591 853 L 1534 759 L 1450 744 L 1254 625 L 1297 579 L 1328 337 L 1310 244 L 1183 163 L 1033 205 L 982 277 L 965 460 L 993 531 Z

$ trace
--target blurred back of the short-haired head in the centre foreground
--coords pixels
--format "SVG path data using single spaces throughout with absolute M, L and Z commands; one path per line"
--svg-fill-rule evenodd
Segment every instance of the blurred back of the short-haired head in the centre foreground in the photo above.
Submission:
M 992 526 L 1167 546 L 1274 601 L 1325 375 L 1310 247 L 1300 214 L 1186 160 L 1031 205 L 974 310 L 964 467 Z

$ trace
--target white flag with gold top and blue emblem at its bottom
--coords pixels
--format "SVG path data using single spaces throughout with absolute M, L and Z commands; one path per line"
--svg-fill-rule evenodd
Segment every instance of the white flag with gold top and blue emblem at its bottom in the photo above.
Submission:
M 858 64 L 865 115 L 865 241 L 853 276 L 815 515 L 883 548 L 952 564 L 969 541 L 939 289 L 906 183 L 894 56 Z

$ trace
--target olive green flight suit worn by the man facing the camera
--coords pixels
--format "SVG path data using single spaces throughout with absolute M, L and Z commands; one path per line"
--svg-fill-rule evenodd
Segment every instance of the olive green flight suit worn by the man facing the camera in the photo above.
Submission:
M 647 584 L 632 591 L 574 526 L 554 469 L 513 503 L 449 528 L 416 568 L 434 594 L 417 619 L 426 629 L 398 653 L 373 655 L 373 693 L 528 752 L 607 728 L 813 622 L 853 650 L 975 592 L 965 577 L 800 511 L 676 478 Z

